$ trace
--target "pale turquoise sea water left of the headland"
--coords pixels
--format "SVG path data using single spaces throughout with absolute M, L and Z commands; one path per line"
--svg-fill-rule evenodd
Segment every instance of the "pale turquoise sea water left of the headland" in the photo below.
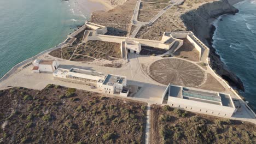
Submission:
M 0 77 L 15 64 L 50 49 L 82 25 L 88 15 L 72 9 L 72 1 L 0 1 Z

